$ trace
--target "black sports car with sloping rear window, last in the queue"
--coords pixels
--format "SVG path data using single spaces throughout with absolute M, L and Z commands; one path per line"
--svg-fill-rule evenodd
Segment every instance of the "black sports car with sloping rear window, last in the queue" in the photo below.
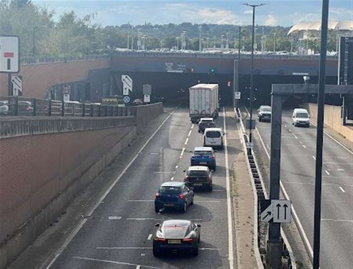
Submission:
M 201 225 L 190 220 L 166 220 L 158 227 L 153 239 L 153 255 L 162 252 L 188 252 L 198 255 Z

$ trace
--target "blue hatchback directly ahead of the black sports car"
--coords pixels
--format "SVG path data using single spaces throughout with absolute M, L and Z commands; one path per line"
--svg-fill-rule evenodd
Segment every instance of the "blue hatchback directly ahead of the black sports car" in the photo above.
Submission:
M 194 203 L 193 188 L 184 182 L 164 182 L 155 198 L 155 211 L 173 208 L 186 212 L 187 206 Z

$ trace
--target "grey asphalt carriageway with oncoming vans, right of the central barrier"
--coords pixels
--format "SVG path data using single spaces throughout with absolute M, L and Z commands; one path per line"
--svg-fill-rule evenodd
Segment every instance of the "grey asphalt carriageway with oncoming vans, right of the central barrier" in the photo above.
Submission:
M 312 248 L 316 127 L 294 127 L 291 116 L 283 110 L 280 178 Z M 270 153 L 271 124 L 256 126 Z M 320 267 L 353 268 L 353 155 L 327 135 L 323 143 Z

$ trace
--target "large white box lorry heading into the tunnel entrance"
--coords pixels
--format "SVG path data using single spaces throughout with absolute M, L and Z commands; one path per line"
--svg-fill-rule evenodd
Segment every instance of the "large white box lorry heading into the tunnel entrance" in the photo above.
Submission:
M 218 84 L 197 84 L 189 88 L 190 120 L 217 118 L 219 112 Z

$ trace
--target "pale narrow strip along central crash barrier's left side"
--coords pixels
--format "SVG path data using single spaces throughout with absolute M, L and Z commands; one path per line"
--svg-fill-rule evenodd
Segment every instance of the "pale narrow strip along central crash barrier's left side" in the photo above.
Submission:
M 235 112 L 235 117 L 238 118 L 238 115 L 237 115 L 237 112 L 234 108 L 234 112 Z M 239 118 L 238 118 L 239 119 Z M 245 128 L 244 128 L 244 124 L 243 124 L 243 121 L 239 120 L 240 121 L 240 130 L 241 130 L 241 137 L 240 137 L 240 141 L 241 141 L 241 144 L 243 144 L 243 149 L 244 149 L 244 154 L 246 156 L 246 159 L 247 159 L 247 150 L 246 150 L 246 145 L 245 145 L 245 140 L 244 140 L 244 133 L 245 133 Z M 259 246 L 257 244 L 257 234 L 258 234 L 258 231 L 257 231 L 257 226 L 258 226 L 258 216 L 257 216 L 257 194 L 256 194 L 256 187 L 255 187 L 255 184 L 254 184 L 254 179 L 252 177 L 252 173 L 251 173 L 251 168 L 250 168 L 250 165 L 249 165 L 249 162 L 246 161 L 246 166 L 247 166 L 247 169 L 249 171 L 249 175 L 250 175 L 250 178 L 251 178 L 251 186 L 252 186 L 252 192 L 253 192 L 253 196 L 254 196 L 254 235 L 253 235 L 253 242 L 254 242 L 254 255 L 255 255 L 255 258 L 256 258 L 256 263 L 257 263 L 257 267 L 259 269 L 263 269 L 264 266 L 263 266 L 263 263 L 262 263 L 262 260 L 261 260 L 261 256 L 260 256 L 260 251 L 259 251 Z

